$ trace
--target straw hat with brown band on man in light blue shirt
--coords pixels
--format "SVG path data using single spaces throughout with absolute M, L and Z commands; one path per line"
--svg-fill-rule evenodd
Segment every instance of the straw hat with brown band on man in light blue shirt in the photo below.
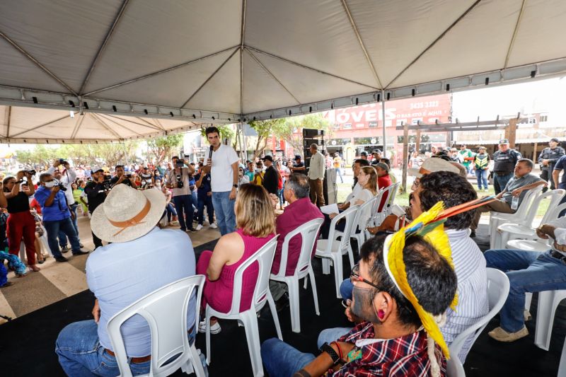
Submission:
M 165 196 L 160 190 L 115 185 L 93 212 L 91 228 L 98 238 L 108 242 L 135 240 L 156 226 L 164 209 Z

